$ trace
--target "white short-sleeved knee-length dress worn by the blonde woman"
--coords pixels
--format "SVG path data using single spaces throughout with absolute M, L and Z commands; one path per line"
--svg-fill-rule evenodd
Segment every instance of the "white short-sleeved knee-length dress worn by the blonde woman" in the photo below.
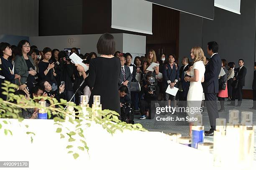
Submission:
M 201 114 L 200 110 L 193 110 L 193 108 L 200 108 L 203 98 L 202 78 L 205 74 L 205 65 L 203 61 L 197 61 L 193 64 L 193 69 L 190 71 L 190 76 L 194 77 L 194 69 L 199 71 L 199 79 L 197 82 L 190 82 L 189 91 L 187 94 L 187 107 L 189 112 L 187 116 L 192 118 L 196 114 Z M 194 122 L 194 121 L 188 121 Z

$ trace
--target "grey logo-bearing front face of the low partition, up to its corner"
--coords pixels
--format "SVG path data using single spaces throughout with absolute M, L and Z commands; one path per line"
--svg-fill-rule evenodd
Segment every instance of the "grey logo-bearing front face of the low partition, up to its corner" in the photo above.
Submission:
M 102 34 L 92 35 L 69 35 L 69 36 L 40 36 L 30 37 L 29 41 L 31 45 L 35 45 L 39 50 L 43 50 L 44 47 L 51 49 L 57 48 L 60 51 L 64 48 L 81 48 L 81 53 L 97 53 L 97 42 Z M 116 43 L 116 50 L 123 51 L 123 34 L 113 34 Z

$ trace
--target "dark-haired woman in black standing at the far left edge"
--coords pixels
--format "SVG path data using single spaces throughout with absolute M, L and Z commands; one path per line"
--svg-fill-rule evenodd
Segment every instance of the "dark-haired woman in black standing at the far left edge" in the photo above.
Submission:
M 2 62 L 2 74 L 6 81 L 15 84 L 15 79 L 20 80 L 20 75 L 14 74 L 13 64 L 8 58 L 12 56 L 12 49 L 9 43 L 0 43 L 0 56 Z

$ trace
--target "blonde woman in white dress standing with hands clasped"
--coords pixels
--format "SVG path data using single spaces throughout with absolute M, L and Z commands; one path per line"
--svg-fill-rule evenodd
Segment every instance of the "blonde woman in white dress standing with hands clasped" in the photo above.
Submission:
M 206 58 L 205 54 L 202 51 L 201 47 L 193 47 L 191 49 L 191 58 L 194 59 L 193 69 L 190 71 L 190 76 L 184 78 L 185 81 L 190 81 L 189 91 L 187 94 L 187 107 L 189 108 L 189 112 L 187 112 L 187 116 L 189 119 L 189 136 L 192 132 L 193 117 L 197 114 L 201 114 L 199 109 L 202 103 L 203 96 L 203 88 L 202 82 L 204 82 L 204 74 L 205 74 L 205 65 Z M 198 108 L 198 109 L 195 109 Z

